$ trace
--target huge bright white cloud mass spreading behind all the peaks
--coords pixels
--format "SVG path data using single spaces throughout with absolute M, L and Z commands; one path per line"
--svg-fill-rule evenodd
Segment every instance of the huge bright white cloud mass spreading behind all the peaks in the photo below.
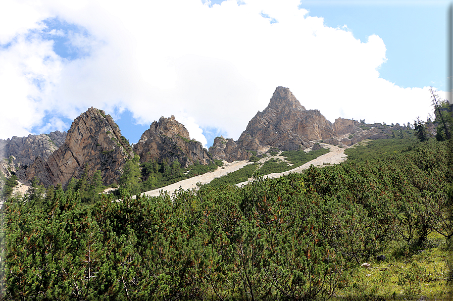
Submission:
M 94 106 L 107 113 L 127 108 L 144 124 L 173 114 L 203 144 L 200 127 L 222 129 L 237 139 L 280 85 L 332 122 L 341 116 L 406 123 L 427 115 L 426 88 L 405 89 L 379 78 L 385 41 L 371 35 L 363 42 L 347 27 L 326 27 L 322 18 L 298 10 L 298 4 L 8 4 L 12 16 L 4 14 L 8 20 L 0 21 L 0 43 L 11 42 L 0 48 L 0 97 L 9 100 L 9 113 L 0 113 L 0 138 L 24 135 L 36 125 L 53 130 L 41 122 L 45 111 L 75 118 Z M 270 24 L 261 13 L 278 23 Z M 81 58 L 61 59 L 51 42 L 37 34 L 26 38 L 30 30 L 42 28 L 42 20 L 55 17 L 89 33 L 68 35 Z M 54 129 L 62 126 L 55 122 Z

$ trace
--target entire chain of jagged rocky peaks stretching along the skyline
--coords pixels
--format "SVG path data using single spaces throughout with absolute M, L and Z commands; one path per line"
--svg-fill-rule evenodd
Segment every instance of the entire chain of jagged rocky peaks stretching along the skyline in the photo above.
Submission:
M 268 107 L 249 121 L 237 141 L 216 137 L 209 152 L 190 139 L 174 116 L 154 121 L 132 148 L 110 115 L 90 108 L 74 120 L 68 133 L 0 140 L 0 156 L 9 158 L 0 169 L 7 177 L 11 171 L 21 179 L 38 177 L 45 186 L 65 186 L 71 177 L 80 178 L 84 168 L 88 177 L 100 170 L 109 185 L 118 182 L 126 160 L 135 154 L 140 162 L 178 161 L 187 168 L 213 159 L 233 162 L 275 150 L 306 149 L 316 142 L 347 147 L 364 139 L 394 137 L 398 131 L 402 135 L 408 129 L 343 118 L 332 124 L 318 110 L 306 110 L 288 88 L 277 87 Z

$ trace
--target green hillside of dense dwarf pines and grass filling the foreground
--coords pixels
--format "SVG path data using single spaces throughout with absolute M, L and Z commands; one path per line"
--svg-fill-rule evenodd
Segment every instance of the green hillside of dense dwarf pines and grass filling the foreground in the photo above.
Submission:
M 103 196 L 94 205 L 61 189 L 45 200 L 38 191 L 27 202 L 12 197 L 2 225 L 2 293 L 7 299 L 445 297 L 439 258 L 446 254 L 442 237 L 451 235 L 448 143 L 430 140 L 403 153 L 172 197 L 112 202 Z M 385 255 L 383 263 L 378 255 Z M 360 267 L 365 261 L 372 269 Z

